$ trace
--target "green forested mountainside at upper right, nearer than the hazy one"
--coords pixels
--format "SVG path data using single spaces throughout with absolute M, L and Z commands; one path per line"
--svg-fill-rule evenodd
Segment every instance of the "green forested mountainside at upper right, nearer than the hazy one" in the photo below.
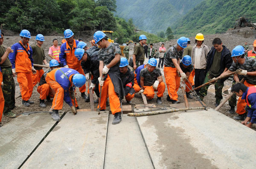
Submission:
M 172 28 L 176 37 L 221 33 L 233 28 L 236 18 L 244 14 L 256 22 L 256 0 L 204 0 Z

